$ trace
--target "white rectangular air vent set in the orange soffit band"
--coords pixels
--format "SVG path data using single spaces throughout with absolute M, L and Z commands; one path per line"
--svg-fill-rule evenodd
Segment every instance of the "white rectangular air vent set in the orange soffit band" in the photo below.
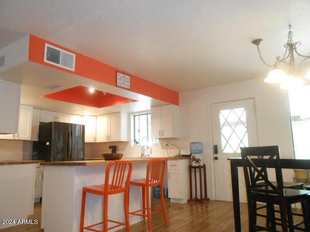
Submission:
M 76 55 L 46 43 L 44 62 L 74 71 Z

